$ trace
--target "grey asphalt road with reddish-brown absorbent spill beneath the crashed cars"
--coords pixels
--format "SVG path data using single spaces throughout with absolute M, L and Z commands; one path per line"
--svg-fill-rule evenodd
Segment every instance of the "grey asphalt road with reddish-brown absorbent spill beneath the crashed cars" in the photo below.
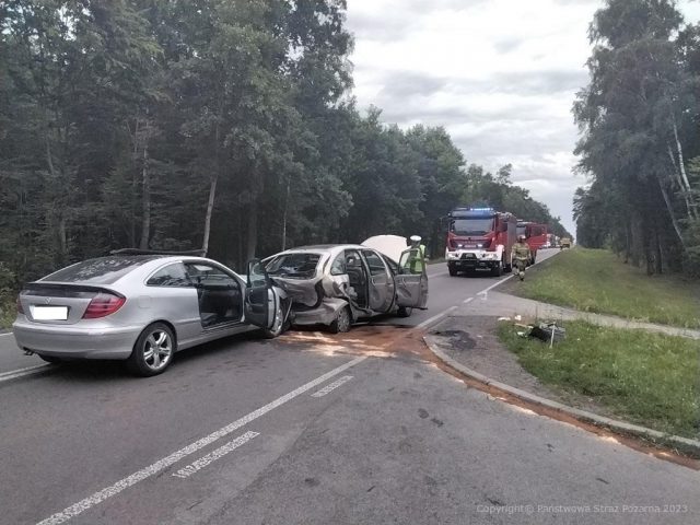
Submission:
M 497 282 L 430 275 L 430 310 L 405 328 L 235 337 L 147 380 L 100 362 L 0 375 L 0 523 L 700 521 L 698 472 L 469 389 L 410 351 L 408 327 L 478 307 Z M 0 336 L 0 372 L 38 364 L 18 353 Z

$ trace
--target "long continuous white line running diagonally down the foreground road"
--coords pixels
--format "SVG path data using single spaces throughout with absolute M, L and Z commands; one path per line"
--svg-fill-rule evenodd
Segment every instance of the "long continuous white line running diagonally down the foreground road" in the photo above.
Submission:
M 292 390 L 289 394 L 285 394 L 282 397 L 275 399 L 272 402 L 268 402 L 264 407 L 260 407 L 257 410 L 254 410 L 253 412 L 248 413 L 247 416 L 244 416 L 243 418 L 236 421 L 233 421 L 232 423 L 229 423 L 228 425 L 217 430 L 215 432 L 212 432 L 211 434 L 200 439 L 199 441 L 196 441 L 195 443 L 191 443 L 185 446 L 184 448 L 180 448 L 179 451 L 174 452 L 170 456 L 159 459 L 154 464 L 149 465 L 148 467 L 133 472 L 131 476 L 128 476 L 117 481 L 116 483 L 95 492 L 94 494 L 85 498 L 82 501 L 79 501 L 78 503 L 68 506 L 67 509 L 63 509 L 61 512 L 58 512 L 52 516 L 49 516 L 46 520 L 39 522 L 38 525 L 58 525 L 59 523 L 67 522 L 71 517 L 74 517 L 78 514 L 81 514 L 90 510 L 91 508 L 102 503 L 103 501 L 112 498 L 113 495 L 117 495 L 122 490 L 128 489 L 129 487 L 132 487 L 139 481 L 143 481 L 144 479 L 150 478 L 154 474 L 160 472 L 161 470 L 179 462 L 184 457 L 187 457 L 190 454 L 199 451 L 200 448 L 203 448 L 210 443 L 213 443 L 214 441 L 218 441 L 221 438 L 231 434 L 232 432 L 236 431 L 241 427 L 248 424 L 250 421 L 256 420 L 257 418 L 266 415 L 270 410 L 273 410 L 281 405 L 284 405 L 287 401 L 294 399 L 295 397 L 304 394 L 305 392 L 314 388 L 315 386 L 324 383 L 325 381 L 345 372 L 346 370 L 354 366 L 355 364 L 361 363 L 365 359 L 366 359 L 365 355 L 360 355 L 353 359 L 352 361 L 348 361 L 347 363 L 338 366 L 337 369 L 334 369 L 330 372 L 306 383 L 305 385 L 300 386 L 295 390 Z

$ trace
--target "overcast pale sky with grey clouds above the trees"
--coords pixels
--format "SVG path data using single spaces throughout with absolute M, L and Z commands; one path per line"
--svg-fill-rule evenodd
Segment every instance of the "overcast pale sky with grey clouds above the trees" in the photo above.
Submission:
M 444 126 L 467 163 L 530 190 L 575 234 L 578 128 L 596 0 L 348 0 L 354 95 L 383 120 Z M 700 20 L 700 2 L 679 8 Z M 465 202 L 466 203 L 466 202 Z

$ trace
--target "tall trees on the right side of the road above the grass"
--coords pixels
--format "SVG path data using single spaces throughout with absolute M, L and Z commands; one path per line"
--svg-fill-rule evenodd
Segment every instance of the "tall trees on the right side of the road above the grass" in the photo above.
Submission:
M 574 219 L 580 244 L 700 276 L 700 25 L 670 0 L 608 0 L 590 30 Z

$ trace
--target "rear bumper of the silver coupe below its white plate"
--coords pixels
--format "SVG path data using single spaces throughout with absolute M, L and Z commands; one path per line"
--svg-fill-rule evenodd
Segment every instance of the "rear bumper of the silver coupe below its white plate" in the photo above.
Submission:
M 127 359 L 142 328 L 37 326 L 20 319 L 12 325 L 14 339 L 21 349 L 43 355 L 74 359 Z

